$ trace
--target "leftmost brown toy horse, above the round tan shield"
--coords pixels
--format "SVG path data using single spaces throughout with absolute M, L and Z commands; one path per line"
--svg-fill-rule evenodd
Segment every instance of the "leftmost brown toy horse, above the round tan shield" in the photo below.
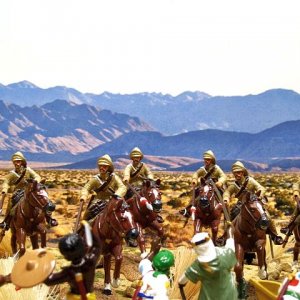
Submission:
M 20 256 L 25 251 L 26 236 L 30 237 L 32 248 L 46 247 L 46 213 L 54 211 L 55 205 L 49 200 L 45 186 L 35 180 L 28 181 L 24 197 L 13 208 L 14 215 L 11 219 L 11 248 L 17 253 L 19 246 Z

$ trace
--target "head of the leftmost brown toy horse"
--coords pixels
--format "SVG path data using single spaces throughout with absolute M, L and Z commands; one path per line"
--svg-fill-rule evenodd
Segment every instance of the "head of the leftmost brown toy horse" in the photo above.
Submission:
M 55 204 L 50 201 L 46 187 L 36 180 L 27 181 L 25 199 L 31 206 L 37 207 L 46 213 L 55 210 Z

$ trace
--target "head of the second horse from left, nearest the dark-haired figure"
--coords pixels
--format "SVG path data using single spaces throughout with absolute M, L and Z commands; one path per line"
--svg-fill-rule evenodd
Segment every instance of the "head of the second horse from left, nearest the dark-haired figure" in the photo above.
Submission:
M 137 225 L 129 211 L 129 205 L 123 199 L 112 198 L 107 206 L 105 219 L 119 235 L 125 238 L 127 244 L 136 247 L 139 235 Z

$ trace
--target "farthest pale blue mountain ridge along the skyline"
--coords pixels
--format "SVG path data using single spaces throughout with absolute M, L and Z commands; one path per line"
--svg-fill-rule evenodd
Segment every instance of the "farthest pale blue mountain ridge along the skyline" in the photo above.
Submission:
M 300 119 L 300 95 L 285 89 L 228 97 L 213 97 L 199 91 L 185 91 L 177 96 L 109 92 L 96 95 L 63 86 L 42 89 L 22 81 L 0 85 L 0 99 L 20 106 L 42 105 L 57 99 L 94 105 L 136 116 L 166 135 L 203 129 L 258 133 L 282 122 Z

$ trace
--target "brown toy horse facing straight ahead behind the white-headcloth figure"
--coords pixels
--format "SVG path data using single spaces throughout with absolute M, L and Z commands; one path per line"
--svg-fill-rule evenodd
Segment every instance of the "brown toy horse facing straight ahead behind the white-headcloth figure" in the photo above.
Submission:
M 187 218 L 194 213 L 194 234 L 201 232 L 203 227 L 210 228 L 212 241 L 216 244 L 223 207 L 211 184 L 201 182 L 201 186 L 195 192 L 194 207 L 196 208 L 194 212 L 191 210 L 191 204 L 180 213 Z

